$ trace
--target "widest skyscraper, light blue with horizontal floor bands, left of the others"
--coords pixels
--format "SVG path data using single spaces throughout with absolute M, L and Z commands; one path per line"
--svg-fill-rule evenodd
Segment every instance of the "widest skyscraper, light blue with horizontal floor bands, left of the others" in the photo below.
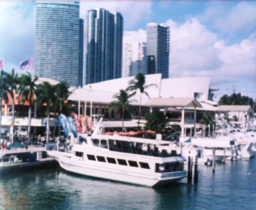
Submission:
M 35 76 L 78 85 L 79 2 L 37 1 Z

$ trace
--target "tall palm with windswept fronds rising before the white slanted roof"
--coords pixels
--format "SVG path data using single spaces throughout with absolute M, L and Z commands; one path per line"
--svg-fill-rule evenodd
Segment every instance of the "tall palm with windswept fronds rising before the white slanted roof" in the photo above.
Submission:
M 145 91 L 145 89 L 147 89 L 150 86 L 157 87 L 157 85 L 156 84 L 145 85 L 145 83 L 146 83 L 145 75 L 142 73 L 139 73 L 135 76 L 135 78 L 133 80 L 129 81 L 130 86 L 126 88 L 126 91 L 135 91 L 134 93 L 136 93 L 137 89 L 139 89 L 139 91 L 141 92 L 141 97 L 142 97 L 142 93 L 144 93 L 147 97 L 149 97 L 149 94 Z M 138 127 L 139 127 L 140 119 L 141 119 L 141 98 L 139 101 Z

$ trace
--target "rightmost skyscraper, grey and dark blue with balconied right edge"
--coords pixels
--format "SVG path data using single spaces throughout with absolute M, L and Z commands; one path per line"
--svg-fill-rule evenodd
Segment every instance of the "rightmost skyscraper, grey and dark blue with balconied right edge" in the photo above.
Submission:
M 162 74 L 169 77 L 170 29 L 164 24 L 147 24 L 147 70 L 148 74 Z

